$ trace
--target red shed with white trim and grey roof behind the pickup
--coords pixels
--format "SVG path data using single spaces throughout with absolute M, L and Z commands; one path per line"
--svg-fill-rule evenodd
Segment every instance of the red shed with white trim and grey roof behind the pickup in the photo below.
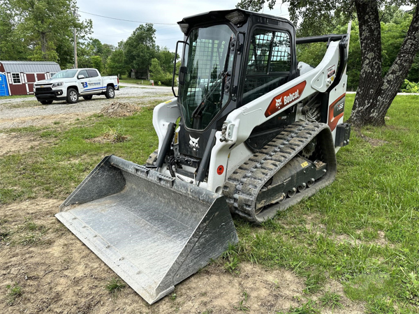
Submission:
M 9 95 L 34 94 L 34 82 L 49 79 L 61 71 L 52 61 L 0 61 L 0 73 L 6 74 Z

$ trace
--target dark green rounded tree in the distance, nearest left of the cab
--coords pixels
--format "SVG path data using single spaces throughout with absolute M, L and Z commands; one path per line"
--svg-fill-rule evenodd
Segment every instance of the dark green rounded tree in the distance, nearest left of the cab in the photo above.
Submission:
M 135 70 L 138 78 L 141 73 L 149 77 L 149 66 L 156 54 L 155 33 L 153 24 L 140 25 L 124 43 L 126 65 Z

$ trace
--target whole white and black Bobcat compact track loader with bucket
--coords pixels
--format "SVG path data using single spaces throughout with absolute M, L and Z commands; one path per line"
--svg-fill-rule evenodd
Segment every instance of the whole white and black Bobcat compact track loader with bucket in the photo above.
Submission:
M 350 25 L 295 38 L 288 20 L 234 9 L 179 26 L 179 95 L 153 114 L 159 148 L 146 165 L 103 158 L 56 215 L 149 304 L 237 243 L 231 214 L 263 223 L 331 184 L 351 131 Z M 316 42 L 323 61 L 298 62 L 297 44 Z

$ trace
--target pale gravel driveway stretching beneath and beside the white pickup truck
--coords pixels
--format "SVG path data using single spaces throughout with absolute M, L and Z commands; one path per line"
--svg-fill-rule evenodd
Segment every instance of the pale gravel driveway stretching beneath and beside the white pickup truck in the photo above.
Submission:
M 171 87 L 137 87 L 134 84 L 115 91 L 114 99 L 105 96 L 93 96 L 91 100 L 80 97 L 79 103 L 68 104 L 58 101 L 52 105 L 41 105 L 35 97 L 0 98 L 0 130 L 5 128 L 22 128 L 25 126 L 43 126 L 52 121 L 73 121 L 90 114 L 100 112 L 105 105 L 114 101 L 147 105 L 155 100 L 166 101 L 173 98 Z

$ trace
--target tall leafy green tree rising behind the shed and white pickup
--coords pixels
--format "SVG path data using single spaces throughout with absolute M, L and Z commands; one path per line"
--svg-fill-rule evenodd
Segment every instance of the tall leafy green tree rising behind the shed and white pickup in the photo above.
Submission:
M 73 14 L 77 9 L 75 0 L 9 1 L 18 13 L 21 38 L 34 47 L 30 59 L 66 63 L 72 54 L 73 29 L 79 40 L 91 33 L 91 20 L 80 22 L 79 16 Z

